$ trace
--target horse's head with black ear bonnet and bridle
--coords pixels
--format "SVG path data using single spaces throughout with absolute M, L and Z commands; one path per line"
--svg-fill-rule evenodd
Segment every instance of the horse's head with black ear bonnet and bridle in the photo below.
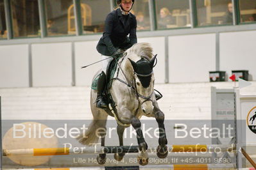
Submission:
M 153 73 L 153 66 L 157 55 L 150 61 L 147 59 L 140 59 L 136 63 L 130 62 L 133 67 L 133 84 L 136 91 L 136 95 L 141 102 L 141 109 L 145 114 L 151 114 L 153 112 L 152 95 L 154 91 L 155 77 Z

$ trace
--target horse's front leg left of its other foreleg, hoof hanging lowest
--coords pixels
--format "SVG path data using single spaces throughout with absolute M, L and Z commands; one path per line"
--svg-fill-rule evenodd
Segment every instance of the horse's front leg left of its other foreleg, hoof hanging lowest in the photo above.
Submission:
M 148 164 L 148 153 L 146 152 L 148 150 L 148 144 L 146 143 L 142 134 L 141 121 L 135 116 L 133 116 L 132 112 L 126 108 L 121 109 L 121 113 L 122 113 L 120 115 L 121 121 L 123 123 L 132 124 L 132 127 L 136 131 L 137 141 L 138 141 L 139 150 L 140 150 L 138 161 L 139 161 L 139 164 L 141 164 L 142 166 L 145 166 L 146 164 Z

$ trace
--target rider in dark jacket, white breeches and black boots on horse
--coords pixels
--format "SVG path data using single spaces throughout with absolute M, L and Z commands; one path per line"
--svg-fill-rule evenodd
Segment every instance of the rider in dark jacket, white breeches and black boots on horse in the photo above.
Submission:
M 130 13 L 134 1 L 117 0 L 119 8 L 110 12 L 105 20 L 105 31 L 96 47 L 101 54 L 101 58 L 105 59 L 102 65 L 102 72 L 98 79 L 97 107 L 107 107 L 107 102 L 103 97 L 103 91 L 106 83 L 107 65 L 113 59 L 109 58 L 109 56 L 117 57 L 121 54 L 121 51 L 129 49 L 133 44 L 137 43 L 137 20 Z

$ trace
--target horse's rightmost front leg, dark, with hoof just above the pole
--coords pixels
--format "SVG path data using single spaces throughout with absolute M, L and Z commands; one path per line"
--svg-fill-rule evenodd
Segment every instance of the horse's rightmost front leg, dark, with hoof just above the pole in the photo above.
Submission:
M 158 139 L 158 147 L 157 147 L 157 156 L 159 158 L 166 158 L 168 155 L 168 150 L 167 150 L 167 139 L 166 139 L 166 129 L 164 128 L 164 113 L 160 111 L 158 108 L 158 105 L 154 105 L 154 114 L 155 114 L 155 119 L 157 120 L 158 123 L 158 128 L 159 128 L 159 139 Z

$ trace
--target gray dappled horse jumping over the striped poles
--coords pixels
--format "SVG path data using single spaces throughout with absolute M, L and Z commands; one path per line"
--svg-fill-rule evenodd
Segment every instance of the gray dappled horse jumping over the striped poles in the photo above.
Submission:
M 90 93 L 90 108 L 94 120 L 90 123 L 85 135 L 80 134 L 78 137 L 80 143 L 86 145 L 98 143 L 99 137 L 96 135 L 96 130 L 103 128 L 105 132 L 100 134 L 101 146 L 105 146 L 107 117 L 108 115 L 115 116 L 120 146 L 123 146 L 124 129 L 132 125 L 137 133 L 137 141 L 140 150 L 138 157 L 139 163 L 146 165 L 148 164 L 148 155 L 146 154 L 148 145 L 144 140 L 141 130 L 141 121 L 139 120 L 141 116 L 144 115 L 157 120 L 159 128 L 157 155 L 160 158 L 167 157 L 164 113 L 160 111 L 154 93 L 155 78 L 153 65 L 155 59 L 156 56 L 153 56 L 152 48 L 149 43 L 136 43 L 133 47 L 124 52 L 123 58 L 118 61 L 119 65 L 117 65 L 117 70 L 115 71 L 114 81 L 112 82 L 112 87 L 109 89 L 115 103 L 115 113 L 111 111 L 113 109 L 112 107 L 107 109 L 99 109 L 96 107 L 97 91 L 92 89 Z M 96 75 L 98 75 L 98 73 L 96 73 Z M 124 153 L 115 153 L 114 155 L 114 158 L 119 161 L 122 160 L 123 157 Z M 99 164 L 104 164 L 105 158 L 106 154 L 99 154 L 97 158 Z

